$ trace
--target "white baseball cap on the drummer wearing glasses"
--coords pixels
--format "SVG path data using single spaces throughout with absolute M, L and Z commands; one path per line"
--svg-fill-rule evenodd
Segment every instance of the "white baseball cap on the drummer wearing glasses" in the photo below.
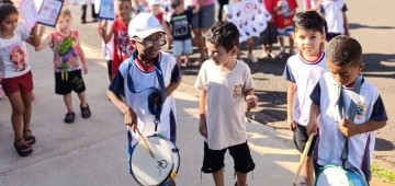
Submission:
M 127 34 L 131 38 L 146 38 L 158 32 L 165 31 L 161 28 L 158 19 L 151 13 L 138 13 L 131 20 L 127 28 Z

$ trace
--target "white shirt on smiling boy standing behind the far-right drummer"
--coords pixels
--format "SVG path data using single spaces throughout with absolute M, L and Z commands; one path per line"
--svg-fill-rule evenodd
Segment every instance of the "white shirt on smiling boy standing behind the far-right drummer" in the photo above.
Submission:
M 319 78 L 327 71 L 325 53 L 320 51 L 315 61 L 307 61 L 300 54 L 292 56 L 286 61 L 283 78 L 296 83 L 296 97 L 293 105 L 293 119 L 302 126 L 306 126 L 309 118 L 312 100 L 309 95 Z

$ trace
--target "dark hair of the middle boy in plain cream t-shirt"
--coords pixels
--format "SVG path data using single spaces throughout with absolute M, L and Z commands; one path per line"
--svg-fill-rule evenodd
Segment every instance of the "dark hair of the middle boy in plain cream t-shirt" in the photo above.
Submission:
M 226 51 L 229 51 L 235 46 L 239 47 L 240 33 L 235 24 L 232 22 L 216 22 L 205 34 L 206 40 L 215 46 L 222 45 Z

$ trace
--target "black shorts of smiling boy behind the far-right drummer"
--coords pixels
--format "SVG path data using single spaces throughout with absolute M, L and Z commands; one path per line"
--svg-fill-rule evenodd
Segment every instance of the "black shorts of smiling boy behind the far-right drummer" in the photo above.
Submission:
M 303 153 L 303 150 L 306 147 L 306 143 L 307 143 L 307 140 L 308 140 L 308 136 L 307 136 L 307 132 L 306 132 L 306 127 L 302 126 L 300 124 L 296 124 L 296 129 L 294 131 L 293 138 L 294 138 L 296 149 L 301 153 Z M 316 140 L 317 140 L 317 136 L 313 137 L 312 146 L 311 146 L 311 148 L 308 150 L 307 156 L 312 155 L 312 152 L 313 152 L 314 144 L 315 144 Z

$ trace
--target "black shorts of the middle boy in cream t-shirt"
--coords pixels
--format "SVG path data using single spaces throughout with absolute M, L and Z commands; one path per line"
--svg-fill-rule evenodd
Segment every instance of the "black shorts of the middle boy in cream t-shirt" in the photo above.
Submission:
M 248 173 L 255 168 L 255 163 L 247 141 L 241 144 L 228 147 L 223 150 L 211 150 L 208 144 L 204 142 L 203 173 L 215 173 L 225 166 L 225 152 L 229 150 L 235 163 L 235 171 L 239 173 Z

